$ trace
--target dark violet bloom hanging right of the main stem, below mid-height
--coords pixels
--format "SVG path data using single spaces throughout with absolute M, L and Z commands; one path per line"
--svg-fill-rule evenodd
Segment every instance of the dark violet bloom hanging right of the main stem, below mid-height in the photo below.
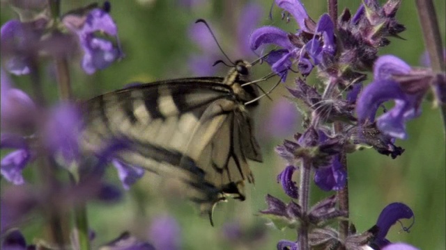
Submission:
M 339 156 L 332 159 L 331 165 L 319 167 L 314 174 L 314 183 L 324 191 L 341 190 L 346 185 L 347 173 L 342 169 Z

